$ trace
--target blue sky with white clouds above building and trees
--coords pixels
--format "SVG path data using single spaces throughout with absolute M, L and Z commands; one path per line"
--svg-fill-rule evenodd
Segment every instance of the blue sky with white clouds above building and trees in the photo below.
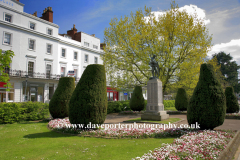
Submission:
M 104 42 L 104 29 L 109 27 L 112 18 L 135 13 L 144 6 L 154 12 L 163 12 L 170 8 L 171 0 L 19 0 L 25 4 L 24 12 L 38 17 L 47 7 L 53 9 L 53 23 L 59 25 L 59 33 L 66 33 L 76 25 L 78 31 L 95 34 Z M 191 11 L 205 19 L 209 33 L 213 34 L 214 53 L 224 51 L 240 65 L 240 0 L 176 0 L 181 8 Z

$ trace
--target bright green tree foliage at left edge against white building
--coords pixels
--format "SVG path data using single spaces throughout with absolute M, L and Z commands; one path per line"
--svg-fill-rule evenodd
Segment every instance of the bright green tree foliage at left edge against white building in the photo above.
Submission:
M 10 78 L 8 73 L 5 73 L 6 68 L 10 68 L 10 63 L 12 62 L 12 58 L 14 56 L 14 52 L 11 50 L 7 50 L 4 53 L 2 52 L 2 49 L 0 49 L 0 82 L 6 83 L 4 87 L 6 87 L 7 91 L 10 91 L 10 88 L 12 88 L 10 84 Z

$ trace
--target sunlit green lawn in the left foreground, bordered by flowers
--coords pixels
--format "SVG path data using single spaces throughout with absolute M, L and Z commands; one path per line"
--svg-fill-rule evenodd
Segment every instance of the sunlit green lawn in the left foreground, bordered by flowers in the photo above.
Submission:
M 84 138 L 49 131 L 46 126 L 47 122 L 0 125 L 0 159 L 130 160 L 174 140 Z

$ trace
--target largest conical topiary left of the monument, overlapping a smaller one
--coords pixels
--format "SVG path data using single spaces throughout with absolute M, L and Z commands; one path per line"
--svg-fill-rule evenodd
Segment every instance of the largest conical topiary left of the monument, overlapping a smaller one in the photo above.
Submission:
M 105 68 L 100 64 L 88 65 L 70 100 L 70 123 L 82 124 L 83 129 L 89 128 L 90 122 L 103 124 L 107 115 L 107 105 Z

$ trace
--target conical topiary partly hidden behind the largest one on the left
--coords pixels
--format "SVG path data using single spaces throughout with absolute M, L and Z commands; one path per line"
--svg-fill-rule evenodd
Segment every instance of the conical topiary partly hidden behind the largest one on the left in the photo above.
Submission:
M 62 77 L 49 103 L 49 112 L 52 117 L 68 117 L 69 101 L 75 88 L 74 77 Z

